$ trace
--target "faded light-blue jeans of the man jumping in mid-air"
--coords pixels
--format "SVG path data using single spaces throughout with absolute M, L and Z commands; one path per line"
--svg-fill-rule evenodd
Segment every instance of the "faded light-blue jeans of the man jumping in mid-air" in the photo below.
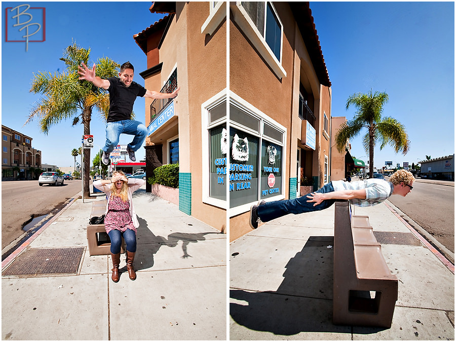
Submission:
M 119 143 L 119 136 L 124 134 L 134 135 L 133 141 L 127 145 L 132 151 L 137 151 L 147 136 L 147 127 L 139 121 L 121 120 L 106 123 L 106 144 L 102 150 L 109 154 Z

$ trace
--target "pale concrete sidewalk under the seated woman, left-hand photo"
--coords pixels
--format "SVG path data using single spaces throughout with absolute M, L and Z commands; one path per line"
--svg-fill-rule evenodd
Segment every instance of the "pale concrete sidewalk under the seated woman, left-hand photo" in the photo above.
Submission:
M 92 202 L 104 199 L 95 196 L 72 202 L 2 265 L 2 338 L 225 340 L 226 235 L 144 186 L 133 195 L 137 278 L 129 279 L 122 254 L 120 281 L 113 283 L 110 256 L 90 256 L 87 247 Z M 55 251 L 80 252 L 80 259 Z M 17 275 L 27 256 L 29 264 L 43 263 L 41 274 Z M 68 262 L 75 272 L 49 274 Z

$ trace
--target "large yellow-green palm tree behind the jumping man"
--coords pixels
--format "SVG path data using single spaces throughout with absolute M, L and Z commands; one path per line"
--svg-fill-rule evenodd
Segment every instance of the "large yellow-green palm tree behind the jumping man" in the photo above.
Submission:
M 25 124 L 35 118 L 40 119 L 40 129 L 48 134 L 52 125 L 71 119 L 73 126 L 82 121 L 84 135 L 90 134 L 92 109 L 96 107 L 103 120 L 109 110 L 109 95 L 91 82 L 79 80 L 78 67 L 89 62 L 88 50 L 78 47 L 75 43 L 68 46 L 64 57 L 60 58 L 66 65 L 66 71 L 38 72 L 34 74 L 30 92 L 44 94 L 44 97 L 32 109 Z M 118 74 L 118 63 L 109 58 L 101 58 L 96 63 L 96 74 L 102 79 Z M 90 197 L 89 171 L 90 149 L 84 154 L 84 196 Z

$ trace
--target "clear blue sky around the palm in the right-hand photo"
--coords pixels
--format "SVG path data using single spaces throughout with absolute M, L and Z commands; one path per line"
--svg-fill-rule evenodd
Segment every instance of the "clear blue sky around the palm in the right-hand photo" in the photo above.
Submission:
M 385 91 L 384 116 L 405 125 L 407 155 L 374 150 L 374 166 L 415 163 L 454 153 L 454 3 L 311 2 L 332 83 L 333 117 L 351 120 L 351 94 Z M 362 136 L 352 155 L 367 163 Z

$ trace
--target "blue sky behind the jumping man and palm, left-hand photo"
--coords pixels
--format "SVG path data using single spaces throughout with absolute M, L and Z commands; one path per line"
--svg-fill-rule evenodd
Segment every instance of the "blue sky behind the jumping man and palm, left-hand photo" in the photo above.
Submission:
M 82 125 L 72 126 L 71 120 L 64 121 L 51 127 L 48 135 L 40 132 L 38 120 L 23 126 L 34 102 L 41 97 L 40 94 L 29 92 L 33 73 L 54 73 L 58 69 L 63 71 L 65 64 L 59 58 L 63 57 L 64 49 L 75 41 L 83 48 L 91 48 L 90 58 L 93 62 L 100 57 L 109 57 L 119 64 L 130 61 L 135 67 L 134 81 L 144 86 L 144 80 L 139 72 L 147 69 L 147 59 L 134 41 L 133 35 L 164 15 L 150 13 L 148 9 L 151 2 L 27 3 L 31 7 L 46 9 L 46 41 L 29 42 L 26 51 L 25 42 L 6 42 L 5 37 L 5 9 L 22 4 L 24 3 L 2 2 L 2 125 L 33 138 L 32 146 L 42 151 L 44 164 L 72 167 L 74 158 L 71 156 L 71 150 L 81 146 L 84 133 Z M 28 13 L 34 16 L 31 22 L 42 22 L 39 11 L 34 13 L 29 10 Z M 26 20 L 28 19 L 20 17 L 21 23 Z M 8 34 L 13 37 L 13 34 L 23 35 L 25 32 L 18 32 L 21 26 L 13 27 L 11 20 L 8 26 Z M 29 32 L 34 32 L 36 28 L 36 25 L 30 26 Z M 39 34 L 41 31 L 34 36 Z M 33 40 L 34 36 L 30 37 L 30 40 Z M 144 122 L 143 98 L 136 99 L 133 110 L 136 118 Z M 98 113 L 92 114 L 90 126 L 95 143 L 91 153 L 93 158 L 98 146 L 104 145 L 105 142 L 104 123 Z M 130 141 L 131 136 L 122 135 L 120 144 L 128 144 Z M 144 148 L 139 149 L 136 159 L 139 161 L 144 159 L 144 156 Z

